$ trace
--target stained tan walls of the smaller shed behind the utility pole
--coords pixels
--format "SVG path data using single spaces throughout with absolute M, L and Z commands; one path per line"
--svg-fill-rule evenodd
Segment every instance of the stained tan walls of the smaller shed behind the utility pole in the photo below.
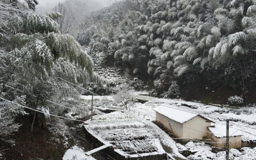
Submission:
M 215 142 L 215 143 L 210 143 L 210 145 L 225 149 L 226 148 L 226 138 L 217 138 L 210 132 L 208 129 L 207 133 L 207 138 L 210 139 L 210 142 Z M 217 142 L 217 143 L 216 143 Z M 235 137 L 229 137 L 229 148 L 241 148 L 242 147 L 242 140 L 241 136 L 235 136 Z

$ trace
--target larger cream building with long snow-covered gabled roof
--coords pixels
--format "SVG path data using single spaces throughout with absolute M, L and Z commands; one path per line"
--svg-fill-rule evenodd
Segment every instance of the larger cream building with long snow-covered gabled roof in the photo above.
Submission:
M 190 108 L 189 108 L 190 109 Z M 175 134 L 183 142 L 190 141 L 189 138 L 202 140 L 207 137 L 208 127 L 212 121 L 200 114 L 186 112 L 180 108 L 157 106 L 156 122 L 161 123 L 168 132 Z

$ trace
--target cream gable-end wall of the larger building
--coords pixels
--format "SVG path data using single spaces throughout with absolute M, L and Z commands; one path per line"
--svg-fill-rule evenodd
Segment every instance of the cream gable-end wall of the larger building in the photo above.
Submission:
M 203 139 L 203 137 L 207 136 L 207 127 L 210 126 L 211 122 L 200 116 L 196 116 L 183 123 L 183 137 Z

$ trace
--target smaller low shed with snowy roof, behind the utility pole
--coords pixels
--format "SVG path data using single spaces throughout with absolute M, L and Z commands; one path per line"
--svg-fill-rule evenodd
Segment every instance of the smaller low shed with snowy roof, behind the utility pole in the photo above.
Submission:
M 242 133 L 234 128 L 229 128 L 229 148 L 241 148 Z M 226 148 L 226 125 L 218 125 L 208 127 L 207 138 L 212 146 L 225 149 Z

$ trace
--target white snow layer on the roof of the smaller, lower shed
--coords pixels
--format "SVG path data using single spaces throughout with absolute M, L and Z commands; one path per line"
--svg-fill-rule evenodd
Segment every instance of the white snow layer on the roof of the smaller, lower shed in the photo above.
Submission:
M 212 134 L 214 134 L 214 136 L 218 138 L 226 137 L 226 125 L 216 125 L 215 127 L 208 128 L 212 132 Z M 229 128 L 229 136 L 242 136 L 242 132 L 234 128 Z

